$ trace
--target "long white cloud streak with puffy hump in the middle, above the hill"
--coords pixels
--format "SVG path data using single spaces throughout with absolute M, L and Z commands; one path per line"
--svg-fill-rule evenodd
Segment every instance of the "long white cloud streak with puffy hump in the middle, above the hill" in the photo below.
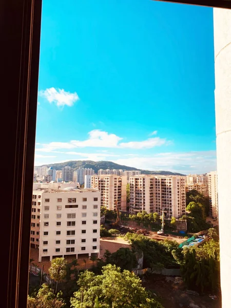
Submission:
M 88 134 L 89 138 L 84 141 L 71 140 L 70 142 L 51 142 L 48 144 L 43 144 L 44 150 L 42 148 L 38 148 L 37 150 L 51 151 L 54 149 L 72 149 L 78 147 L 143 149 L 167 144 L 166 139 L 161 139 L 159 137 L 149 138 L 144 141 L 120 142 L 123 138 L 99 129 L 91 130 Z

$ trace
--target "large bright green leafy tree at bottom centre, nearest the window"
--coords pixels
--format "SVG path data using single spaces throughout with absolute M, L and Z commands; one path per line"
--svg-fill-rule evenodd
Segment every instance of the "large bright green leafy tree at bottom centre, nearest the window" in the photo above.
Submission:
M 141 284 L 141 280 L 129 271 L 108 264 L 102 275 L 89 271 L 80 275 L 79 290 L 71 298 L 73 308 L 163 308 Z

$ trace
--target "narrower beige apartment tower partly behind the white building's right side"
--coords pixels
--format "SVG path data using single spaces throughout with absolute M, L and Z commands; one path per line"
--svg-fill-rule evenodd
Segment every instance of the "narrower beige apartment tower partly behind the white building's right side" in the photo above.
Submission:
M 126 184 L 124 176 L 101 175 L 91 177 L 91 187 L 101 192 L 101 206 L 109 210 L 116 209 L 118 202 L 121 210 L 126 210 Z

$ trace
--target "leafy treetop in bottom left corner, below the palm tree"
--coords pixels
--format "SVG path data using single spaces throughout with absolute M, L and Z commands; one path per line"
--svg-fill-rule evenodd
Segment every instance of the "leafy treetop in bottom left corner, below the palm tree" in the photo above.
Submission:
M 52 289 L 43 284 L 35 298 L 28 296 L 27 308 L 61 308 L 64 307 L 64 302 L 60 299 L 62 294 L 57 297 L 53 294 Z

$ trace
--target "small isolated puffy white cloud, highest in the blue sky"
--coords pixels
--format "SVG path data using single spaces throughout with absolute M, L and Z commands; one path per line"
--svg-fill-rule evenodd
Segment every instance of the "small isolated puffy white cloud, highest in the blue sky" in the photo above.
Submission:
M 79 101 L 79 96 L 76 92 L 70 93 L 64 89 L 49 88 L 38 92 L 41 97 L 48 100 L 49 103 L 54 103 L 58 107 L 73 106 L 74 102 Z

